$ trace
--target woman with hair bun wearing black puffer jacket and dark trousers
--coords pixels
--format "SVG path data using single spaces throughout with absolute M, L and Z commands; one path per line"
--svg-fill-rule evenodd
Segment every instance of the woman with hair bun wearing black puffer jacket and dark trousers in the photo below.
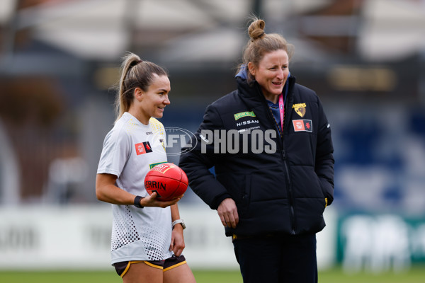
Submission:
M 249 25 L 237 90 L 208 105 L 179 166 L 217 209 L 245 283 L 314 283 L 315 234 L 334 192 L 331 128 L 316 93 L 290 74 L 292 46 L 264 27 Z

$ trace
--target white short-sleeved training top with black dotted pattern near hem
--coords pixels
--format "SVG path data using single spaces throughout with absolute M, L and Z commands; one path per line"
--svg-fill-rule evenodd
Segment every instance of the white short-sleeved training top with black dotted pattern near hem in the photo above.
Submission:
M 151 118 L 143 125 L 125 112 L 103 141 L 97 173 L 118 176 L 116 185 L 133 195 L 147 196 L 144 180 L 150 168 L 166 162 L 165 129 Z M 111 263 L 170 258 L 170 207 L 112 204 Z

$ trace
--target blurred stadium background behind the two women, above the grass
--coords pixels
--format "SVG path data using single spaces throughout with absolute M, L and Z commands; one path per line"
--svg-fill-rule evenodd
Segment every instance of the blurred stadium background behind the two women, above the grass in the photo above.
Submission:
M 169 70 L 162 122 L 194 132 L 235 87 L 251 14 L 295 45 L 291 74 L 331 122 L 335 200 L 319 269 L 424 264 L 424 0 L 3 0 L 0 271 L 111 270 L 110 206 L 94 181 L 120 57 Z M 179 206 L 191 266 L 237 270 L 215 212 L 190 190 Z

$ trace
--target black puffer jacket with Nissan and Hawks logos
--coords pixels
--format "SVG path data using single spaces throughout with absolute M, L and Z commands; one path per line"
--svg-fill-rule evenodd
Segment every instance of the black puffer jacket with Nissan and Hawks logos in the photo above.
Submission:
M 319 98 L 290 76 L 281 135 L 259 84 L 237 83 L 208 106 L 192 150 L 181 155 L 190 187 L 212 209 L 227 197 L 236 202 L 239 224 L 227 236 L 321 231 L 333 200 L 334 149 Z

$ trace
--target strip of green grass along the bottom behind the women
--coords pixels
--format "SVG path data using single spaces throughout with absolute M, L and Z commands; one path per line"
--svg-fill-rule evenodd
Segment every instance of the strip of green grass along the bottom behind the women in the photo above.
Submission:
M 197 283 L 242 283 L 239 271 L 193 270 Z M 119 283 L 111 271 L 0 271 L 0 282 L 7 283 Z M 339 268 L 319 272 L 319 282 L 326 283 L 420 283 L 425 282 L 425 266 L 413 267 L 406 273 L 388 272 L 380 275 L 347 275 Z

